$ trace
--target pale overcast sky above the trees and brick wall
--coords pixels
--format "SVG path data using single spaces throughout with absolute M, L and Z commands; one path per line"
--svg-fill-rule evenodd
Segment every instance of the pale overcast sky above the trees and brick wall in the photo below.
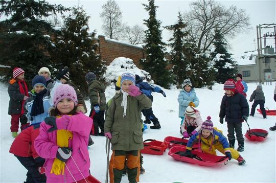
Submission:
M 104 34 L 101 26 L 102 19 L 100 18 L 100 13 L 102 12 L 102 5 L 106 1 L 71 1 L 71 0 L 60 0 L 51 1 L 51 4 L 62 4 L 65 7 L 73 7 L 78 5 L 83 5 L 86 9 L 87 14 L 90 16 L 89 28 L 90 30 L 97 30 L 98 34 Z M 121 0 L 116 1 L 123 13 L 123 22 L 127 22 L 128 25 L 133 26 L 135 24 L 143 25 L 143 19 L 148 19 L 148 12 L 145 11 L 143 4 L 148 4 L 148 1 L 137 1 L 137 0 Z M 162 21 L 162 26 L 172 25 L 177 20 L 177 12 L 189 11 L 189 4 L 192 1 L 155 1 L 155 5 L 159 6 L 157 9 L 157 19 Z M 230 51 L 236 57 L 240 56 L 245 51 L 255 50 L 254 39 L 257 38 L 256 26 L 260 24 L 276 24 L 276 1 L 275 0 L 259 0 L 259 1 L 219 1 L 225 7 L 235 5 L 238 8 L 245 9 L 250 17 L 251 29 L 246 32 L 237 35 L 234 39 L 229 40 L 231 43 L 232 50 Z M 146 27 L 145 27 L 146 29 Z M 273 30 L 264 30 L 265 32 L 272 32 Z M 167 42 L 170 38 L 171 33 L 164 30 L 163 39 Z M 270 39 L 270 44 L 274 47 L 274 40 Z M 256 49 L 257 49 L 257 39 L 256 39 Z

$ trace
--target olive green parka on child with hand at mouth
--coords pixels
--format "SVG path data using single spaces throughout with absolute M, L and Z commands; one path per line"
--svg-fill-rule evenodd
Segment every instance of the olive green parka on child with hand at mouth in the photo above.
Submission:
M 123 94 L 116 94 L 105 117 L 104 132 L 112 134 L 111 149 L 123 151 L 143 149 L 141 110 L 149 109 L 152 105 L 151 100 L 144 94 L 137 97 L 128 96 L 125 117 L 123 117 L 122 101 Z

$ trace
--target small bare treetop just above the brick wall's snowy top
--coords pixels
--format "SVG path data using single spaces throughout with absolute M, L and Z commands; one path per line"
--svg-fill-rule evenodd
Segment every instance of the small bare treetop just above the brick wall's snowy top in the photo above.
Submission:
M 130 44 L 142 44 L 145 39 L 145 31 L 142 26 L 137 24 L 133 27 L 125 25 L 122 39 Z

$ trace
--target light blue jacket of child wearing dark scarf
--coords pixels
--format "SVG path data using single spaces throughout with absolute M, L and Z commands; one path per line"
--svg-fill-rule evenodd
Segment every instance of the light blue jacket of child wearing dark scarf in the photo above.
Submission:
M 29 99 L 25 102 L 24 115 L 28 118 L 28 123 L 30 122 L 31 124 L 40 123 L 40 122 L 44 121 L 44 119 L 46 117 L 49 117 L 49 108 L 51 107 L 50 102 L 49 102 L 50 91 L 47 91 L 47 93 L 45 93 L 44 97 L 43 97 L 44 113 L 41 113 L 40 115 L 31 117 L 31 110 L 32 110 L 34 98 L 35 98 L 35 94 L 32 91 L 29 91 Z

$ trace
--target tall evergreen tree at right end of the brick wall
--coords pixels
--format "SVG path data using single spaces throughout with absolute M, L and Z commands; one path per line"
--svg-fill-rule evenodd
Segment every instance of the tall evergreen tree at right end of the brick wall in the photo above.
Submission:
M 146 59 L 141 59 L 140 63 L 144 70 L 150 73 L 156 84 L 168 87 L 172 82 L 171 71 L 167 70 L 168 60 L 165 58 L 165 43 L 162 41 L 162 31 L 160 30 L 160 20 L 156 19 L 156 8 L 154 0 L 149 0 L 149 5 L 143 4 L 149 13 L 149 19 L 144 19 L 144 24 L 148 27 L 145 40 Z

